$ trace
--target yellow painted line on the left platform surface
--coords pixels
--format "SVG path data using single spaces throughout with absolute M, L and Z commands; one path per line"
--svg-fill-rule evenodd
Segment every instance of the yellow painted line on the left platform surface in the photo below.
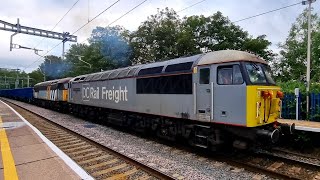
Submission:
M 2 128 L 2 118 L 0 116 L 0 145 L 3 164 L 3 174 L 5 180 L 17 180 L 18 174 L 11 153 L 9 140 L 4 128 Z

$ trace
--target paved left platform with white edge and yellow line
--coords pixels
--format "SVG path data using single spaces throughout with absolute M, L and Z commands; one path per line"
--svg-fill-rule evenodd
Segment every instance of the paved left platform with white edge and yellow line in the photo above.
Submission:
M 0 100 L 0 179 L 93 179 Z

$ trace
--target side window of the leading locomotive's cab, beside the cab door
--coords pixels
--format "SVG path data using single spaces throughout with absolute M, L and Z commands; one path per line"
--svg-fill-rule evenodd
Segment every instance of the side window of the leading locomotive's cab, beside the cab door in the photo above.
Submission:
M 239 65 L 219 66 L 218 67 L 218 84 L 242 84 L 243 77 Z

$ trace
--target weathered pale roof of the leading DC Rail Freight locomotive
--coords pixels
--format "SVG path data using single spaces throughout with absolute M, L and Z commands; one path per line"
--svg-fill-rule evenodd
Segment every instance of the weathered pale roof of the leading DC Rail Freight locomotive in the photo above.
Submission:
M 167 61 L 141 64 L 103 72 L 80 75 L 74 77 L 70 81 L 95 81 L 164 73 L 168 74 L 176 72 L 192 72 L 192 67 L 196 65 L 201 66 L 234 61 L 253 61 L 266 64 L 266 61 L 248 52 L 237 50 L 221 50 L 197 54 L 189 57 L 180 57 Z

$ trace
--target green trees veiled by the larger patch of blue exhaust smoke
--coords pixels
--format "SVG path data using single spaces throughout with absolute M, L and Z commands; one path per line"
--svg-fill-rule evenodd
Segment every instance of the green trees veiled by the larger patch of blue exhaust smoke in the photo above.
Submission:
M 66 53 L 70 67 L 66 76 L 78 76 L 130 65 L 128 31 L 123 27 L 97 27 L 89 45 L 73 44 Z

